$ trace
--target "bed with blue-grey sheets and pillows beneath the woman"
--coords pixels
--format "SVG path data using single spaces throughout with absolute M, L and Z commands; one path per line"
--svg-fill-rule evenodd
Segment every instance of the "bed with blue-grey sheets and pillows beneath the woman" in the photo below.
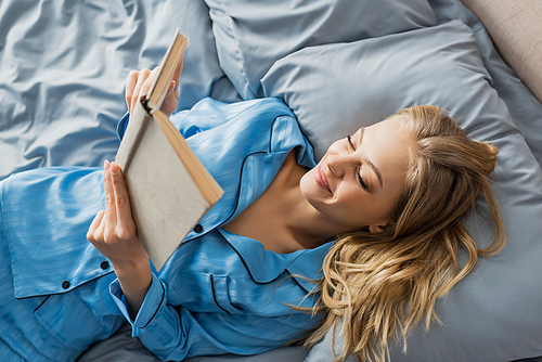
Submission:
M 317 156 L 400 108 L 439 105 L 500 148 L 507 244 L 437 302 L 443 323 L 415 329 L 391 360 L 542 361 L 541 18 L 539 0 L 2 0 L 0 179 L 113 159 L 125 79 L 157 65 L 177 27 L 191 39 L 179 111 L 206 96 L 278 96 Z M 486 215 L 480 201 L 469 216 L 480 246 Z M 79 360 L 158 361 L 129 334 Z M 186 361 L 324 362 L 331 337 L 310 351 Z

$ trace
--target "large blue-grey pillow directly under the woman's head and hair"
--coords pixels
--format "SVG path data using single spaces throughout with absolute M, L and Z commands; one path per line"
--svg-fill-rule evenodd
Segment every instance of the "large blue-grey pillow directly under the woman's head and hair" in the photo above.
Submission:
M 436 303 L 443 324 L 398 342 L 397 361 L 511 361 L 542 354 L 542 171 L 490 86 L 470 28 L 450 22 L 362 41 L 312 47 L 276 62 L 261 85 L 293 108 L 319 156 L 337 138 L 398 109 L 436 104 L 475 139 L 495 144 L 494 190 L 507 244 Z M 492 230 L 485 201 L 467 222 L 480 247 Z M 325 342 L 325 341 L 324 341 Z M 323 344 L 324 344 L 323 342 Z M 307 362 L 330 361 L 325 344 Z

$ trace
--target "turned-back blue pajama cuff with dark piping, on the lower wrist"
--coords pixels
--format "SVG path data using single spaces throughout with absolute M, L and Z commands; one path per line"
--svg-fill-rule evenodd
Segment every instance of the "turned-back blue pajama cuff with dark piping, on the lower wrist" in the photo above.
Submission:
M 117 305 L 120 312 L 125 315 L 126 320 L 130 322 L 133 327 L 144 328 L 152 322 L 153 318 L 158 313 L 160 307 L 165 303 L 166 300 L 166 288 L 163 282 L 153 273 L 153 282 L 151 283 L 151 287 L 146 293 L 145 299 L 141 305 L 141 308 L 136 316 L 136 320 L 130 318 L 128 313 L 128 306 L 122 300 L 124 294 L 120 288 L 120 284 L 118 280 L 113 281 L 109 285 L 109 294 L 113 297 L 113 300 Z

